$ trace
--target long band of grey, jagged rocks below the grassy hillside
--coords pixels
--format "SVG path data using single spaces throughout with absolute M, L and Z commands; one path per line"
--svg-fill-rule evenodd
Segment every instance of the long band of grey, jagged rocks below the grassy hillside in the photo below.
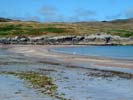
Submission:
M 86 36 L 15 36 L 0 38 L 0 44 L 30 44 L 30 45 L 133 45 L 133 37 L 123 38 L 109 34 Z

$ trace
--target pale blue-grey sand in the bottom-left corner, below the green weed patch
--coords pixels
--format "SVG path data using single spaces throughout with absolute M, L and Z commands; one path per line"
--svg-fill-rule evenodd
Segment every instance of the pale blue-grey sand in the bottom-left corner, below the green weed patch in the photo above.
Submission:
M 0 75 L 0 100 L 52 100 L 39 96 L 36 91 L 26 88 L 24 82 L 15 76 Z

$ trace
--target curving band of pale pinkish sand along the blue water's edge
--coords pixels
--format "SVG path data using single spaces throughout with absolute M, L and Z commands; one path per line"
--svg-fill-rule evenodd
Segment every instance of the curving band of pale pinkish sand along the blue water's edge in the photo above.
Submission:
M 10 52 L 33 57 L 43 63 L 133 73 L 133 62 L 130 60 L 86 57 L 49 51 L 52 48 L 60 47 L 72 47 L 72 45 L 6 45 Z

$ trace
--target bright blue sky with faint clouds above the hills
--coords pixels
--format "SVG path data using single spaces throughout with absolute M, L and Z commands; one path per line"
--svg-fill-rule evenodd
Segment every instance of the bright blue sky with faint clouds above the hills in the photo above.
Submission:
M 133 0 L 0 0 L 0 17 L 40 22 L 133 18 Z

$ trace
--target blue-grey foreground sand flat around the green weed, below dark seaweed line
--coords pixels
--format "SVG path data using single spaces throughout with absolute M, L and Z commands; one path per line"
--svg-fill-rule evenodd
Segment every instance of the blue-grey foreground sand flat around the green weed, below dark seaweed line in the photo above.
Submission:
M 55 80 L 58 93 L 71 100 L 133 100 L 133 79 L 89 76 L 95 70 L 68 68 L 37 62 L 37 59 L 0 51 L 0 72 L 36 71 Z M 88 65 L 89 66 L 89 65 Z M 47 71 L 53 70 L 53 71 Z M 15 76 L 0 75 L 0 100 L 56 100 L 27 87 Z

